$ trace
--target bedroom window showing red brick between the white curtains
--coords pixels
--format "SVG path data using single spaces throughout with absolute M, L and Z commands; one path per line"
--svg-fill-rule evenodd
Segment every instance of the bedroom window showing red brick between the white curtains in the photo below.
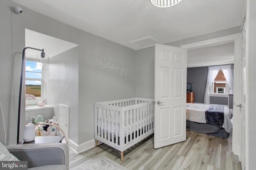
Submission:
M 219 70 L 217 76 L 212 82 L 212 94 L 226 94 L 226 89 L 228 89 L 228 83 L 222 70 Z

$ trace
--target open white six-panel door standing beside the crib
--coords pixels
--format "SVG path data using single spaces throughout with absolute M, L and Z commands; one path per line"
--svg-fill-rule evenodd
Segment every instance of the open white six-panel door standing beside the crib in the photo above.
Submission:
M 155 45 L 154 148 L 186 140 L 187 49 Z

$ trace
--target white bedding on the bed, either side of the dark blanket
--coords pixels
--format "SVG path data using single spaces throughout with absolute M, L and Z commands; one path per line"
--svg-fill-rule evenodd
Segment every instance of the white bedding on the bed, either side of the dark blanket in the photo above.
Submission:
M 186 120 L 198 123 L 206 123 L 205 111 L 209 109 L 210 105 L 187 103 L 186 104 Z M 224 106 L 224 123 L 223 128 L 226 132 L 230 133 L 232 130 L 232 112 L 228 107 Z

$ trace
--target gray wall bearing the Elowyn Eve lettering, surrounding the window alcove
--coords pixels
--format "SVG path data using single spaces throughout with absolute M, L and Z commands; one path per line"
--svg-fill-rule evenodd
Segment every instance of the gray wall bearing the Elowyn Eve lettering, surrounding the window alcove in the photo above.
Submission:
M 72 83 L 75 81 L 74 95 L 79 92 L 78 95 L 75 95 L 75 99 L 65 99 L 66 103 L 73 107 L 72 114 L 75 115 L 70 120 L 70 125 L 72 125 L 70 134 L 73 133 L 70 135 L 70 139 L 76 144 L 92 140 L 94 138 L 94 103 L 135 97 L 135 51 L 39 14 L 24 6 L 21 6 L 22 14 L 14 14 L 12 10 L 14 5 L 18 4 L 10 0 L 0 1 L 0 103 L 2 103 L 6 120 L 7 144 L 16 143 L 20 66 L 22 50 L 25 47 L 25 28 L 79 45 L 78 58 L 75 57 L 72 61 L 73 65 L 70 66 L 74 67 L 78 64 L 78 68 L 72 71 L 72 76 L 78 77 L 65 77 L 65 79 L 72 80 Z M 47 51 L 45 52 L 47 53 Z M 72 57 L 74 56 L 71 55 L 69 59 L 71 60 Z M 126 73 L 134 74 L 134 80 L 124 80 L 124 75 L 119 76 L 118 70 L 98 69 L 97 64 L 100 57 L 111 58 L 111 65 L 129 68 L 130 71 Z M 66 58 L 66 62 L 69 62 L 69 59 Z M 57 58 L 54 62 L 58 62 Z M 57 76 L 56 74 L 54 76 Z M 60 83 L 60 80 L 57 82 Z M 70 82 L 67 84 L 70 85 Z M 67 94 L 61 96 L 67 97 Z M 55 106 L 54 98 L 55 96 L 52 99 L 50 97 L 50 100 L 46 99 L 48 104 L 53 103 Z M 59 102 L 65 102 L 65 100 L 61 99 Z M 78 101 L 78 104 L 74 104 L 70 100 Z M 22 140 L 24 130 L 22 122 L 25 122 L 25 99 L 22 99 L 21 109 L 20 140 Z

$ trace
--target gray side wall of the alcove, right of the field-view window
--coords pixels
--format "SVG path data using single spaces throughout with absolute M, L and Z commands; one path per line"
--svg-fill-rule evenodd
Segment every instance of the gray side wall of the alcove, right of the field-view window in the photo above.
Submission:
M 69 106 L 69 138 L 78 141 L 78 46 L 50 58 L 46 72 L 46 101 L 59 121 L 59 104 Z

